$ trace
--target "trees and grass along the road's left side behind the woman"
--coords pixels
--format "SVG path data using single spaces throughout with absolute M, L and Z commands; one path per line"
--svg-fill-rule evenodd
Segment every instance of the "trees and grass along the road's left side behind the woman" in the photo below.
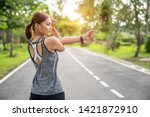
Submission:
M 39 0 L 2 0 L 0 2 L 0 79 L 29 58 L 25 27 L 37 11 L 49 13 Z

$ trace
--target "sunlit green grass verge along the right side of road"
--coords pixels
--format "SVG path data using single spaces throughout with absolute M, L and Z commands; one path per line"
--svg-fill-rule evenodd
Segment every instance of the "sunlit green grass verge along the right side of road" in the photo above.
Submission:
M 74 47 L 80 47 L 79 44 L 74 44 Z M 144 62 L 140 61 L 141 58 L 150 58 L 150 53 L 146 53 L 144 50 L 144 46 L 141 46 L 141 51 L 139 53 L 138 58 L 134 58 L 134 53 L 136 50 L 136 47 L 134 45 L 132 46 L 121 46 L 119 49 L 115 51 L 106 50 L 105 46 L 100 44 L 91 44 L 88 47 L 83 47 L 85 49 L 88 49 L 90 51 L 94 51 L 96 53 L 105 54 L 111 57 L 124 59 L 126 61 L 132 62 L 136 65 L 142 66 L 144 68 L 150 69 L 150 62 Z

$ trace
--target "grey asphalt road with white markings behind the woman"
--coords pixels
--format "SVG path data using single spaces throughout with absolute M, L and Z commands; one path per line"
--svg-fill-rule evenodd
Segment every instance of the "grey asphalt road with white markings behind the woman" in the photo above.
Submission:
M 150 73 L 131 67 L 79 48 L 59 53 L 58 74 L 67 100 L 149 100 Z M 0 99 L 28 100 L 34 73 L 30 61 L 0 84 Z

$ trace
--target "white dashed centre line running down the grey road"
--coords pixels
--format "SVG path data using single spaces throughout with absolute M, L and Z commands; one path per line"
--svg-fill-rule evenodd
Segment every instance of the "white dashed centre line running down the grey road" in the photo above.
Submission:
M 109 88 L 110 86 L 104 82 L 104 81 L 100 81 L 100 78 L 98 76 L 96 76 L 92 71 L 90 71 L 85 65 L 83 65 L 74 55 L 72 55 L 69 51 L 67 51 L 67 53 L 77 62 L 80 64 L 80 66 L 82 68 L 84 68 L 85 71 L 87 71 L 94 79 L 98 80 L 99 83 L 101 85 L 103 85 L 105 88 Z M 118 91 L 116 91 L 115 89 L 109 89 L 113 94 L 115 94 L 116 96 L 118 96 L 119 98 L 124 98 L 124 96 L 122 94 L 120 94 Z

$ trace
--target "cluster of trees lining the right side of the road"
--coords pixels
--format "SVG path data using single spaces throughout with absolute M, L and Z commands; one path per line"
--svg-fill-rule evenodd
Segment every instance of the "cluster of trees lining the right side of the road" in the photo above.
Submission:
M 82 0 L 78 4 L 77 11 L 86 21 L 85 25 L 96 29 L 98 34 L 102 32 L 107 49 L 115 50 L 119 44 L 129 44 L 124 41 L 134 42 L 133 55 L 139 56 L 150 32 L 150 0 Z M 118 43 L 122 32 L 134 37 L 122 38 Z

